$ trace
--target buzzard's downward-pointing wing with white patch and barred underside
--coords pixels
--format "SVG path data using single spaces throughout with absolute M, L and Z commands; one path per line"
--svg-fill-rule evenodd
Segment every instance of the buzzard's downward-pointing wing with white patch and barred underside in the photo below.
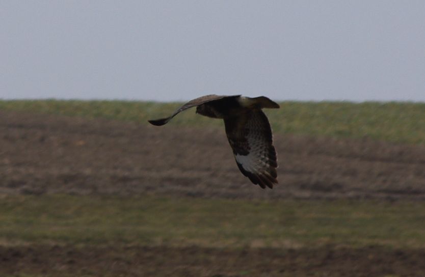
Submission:
M 224 124 L 237 167 L 254 184 L 273 188 L 277 157 L 267 116 L 260 109 L 246 109 L 225 118 Z

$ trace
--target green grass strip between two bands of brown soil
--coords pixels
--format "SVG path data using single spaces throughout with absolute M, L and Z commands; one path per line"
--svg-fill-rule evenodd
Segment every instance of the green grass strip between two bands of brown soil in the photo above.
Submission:
M 425 247 L 425 203 L 8 196 L 0 243 Z

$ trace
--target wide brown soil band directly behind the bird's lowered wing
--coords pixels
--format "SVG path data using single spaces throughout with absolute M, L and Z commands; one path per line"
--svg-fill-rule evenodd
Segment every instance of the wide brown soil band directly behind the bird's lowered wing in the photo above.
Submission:
M 252 185 L 223 129 L 0 112 L 0 194 L 425 199 L 425 147 L 275 135 L 279 184 Z

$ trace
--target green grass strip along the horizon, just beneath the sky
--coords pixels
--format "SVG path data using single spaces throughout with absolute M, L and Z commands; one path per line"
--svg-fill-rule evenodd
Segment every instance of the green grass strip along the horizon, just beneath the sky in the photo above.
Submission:
M 181 103 L 80 100 L 8 100 L 0 109 L 106 118 L 148 124 L 170 115 Z M 281 102 L 266 109 L 277 133 L 373 140 L 425 145 L 425 103 L 411 102 Z M 193 109 L 172 121 L 177 126 L 222 126 L 219 120 L 195 115 Z

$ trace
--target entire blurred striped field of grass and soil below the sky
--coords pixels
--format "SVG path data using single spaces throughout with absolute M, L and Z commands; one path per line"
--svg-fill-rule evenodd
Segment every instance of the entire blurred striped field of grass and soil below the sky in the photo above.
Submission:
M 180 104 L 0 101 L 2 276 L 425 274 L 425 104 L 266 110 L 273 190 Z

